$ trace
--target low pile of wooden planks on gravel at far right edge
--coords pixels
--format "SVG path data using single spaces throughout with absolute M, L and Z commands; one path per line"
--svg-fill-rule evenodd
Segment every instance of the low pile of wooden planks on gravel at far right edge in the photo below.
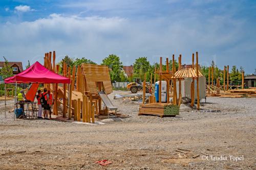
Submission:
M 256 88 L 228 90 L 221 98 L 255 98 Z

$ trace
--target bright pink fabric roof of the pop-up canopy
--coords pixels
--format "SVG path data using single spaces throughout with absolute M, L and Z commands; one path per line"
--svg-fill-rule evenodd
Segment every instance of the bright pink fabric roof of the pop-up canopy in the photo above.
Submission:
M 38 61 L 19 74 L 5 79 L 5 83 L 68 83 L 70 79 L 50 71 Z

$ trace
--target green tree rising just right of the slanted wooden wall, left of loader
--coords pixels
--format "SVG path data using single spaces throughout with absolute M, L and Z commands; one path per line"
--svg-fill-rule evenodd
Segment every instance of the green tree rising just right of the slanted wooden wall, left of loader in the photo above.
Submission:
M 111 54 L 109 57 L 106 57 L 102 60 L 101 65 L 107 65 L 110 71 L 111 81 L 121 81 L 120 74 L 123 68 L 122 62 L 120 62 L 120 58 L 117 55 Z

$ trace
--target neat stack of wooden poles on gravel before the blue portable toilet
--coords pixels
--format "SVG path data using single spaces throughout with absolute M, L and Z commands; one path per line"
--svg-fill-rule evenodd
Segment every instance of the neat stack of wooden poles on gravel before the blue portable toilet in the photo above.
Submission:
M 169 103 L 141 104 L 139 114 L 152 114 L 163 117 L 164 115 L 179 115 L 180 107 Z

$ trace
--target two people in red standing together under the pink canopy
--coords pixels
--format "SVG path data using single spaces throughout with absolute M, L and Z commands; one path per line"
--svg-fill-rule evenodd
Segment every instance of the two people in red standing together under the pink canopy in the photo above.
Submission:
M 36 95 L 37 99 L 37 105 L 38 105 L 38 118 L 42 117 L 42 110 L 44 109 L 44 119 L 49 119 L 48 115 L 52 114 L 52 105 L 54 104 L 54 96 L 51 93 L 51 90 L 47 90 L 47 88 L 44 88 L 44 92 L 42 93 L 41 90 L 37 91 Z

